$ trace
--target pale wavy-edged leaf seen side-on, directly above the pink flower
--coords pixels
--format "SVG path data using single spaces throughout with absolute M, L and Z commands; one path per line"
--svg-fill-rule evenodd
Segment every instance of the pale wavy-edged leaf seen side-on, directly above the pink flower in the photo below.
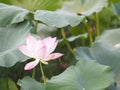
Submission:
M 76 26 L 82 21 L 83 18 L 83 16 L 59 11 L 52 12 L 38 10 L 35 12 L 35 20 L 39 20 L 48 26 L 58 28 L 65 27 L 67 25 Z

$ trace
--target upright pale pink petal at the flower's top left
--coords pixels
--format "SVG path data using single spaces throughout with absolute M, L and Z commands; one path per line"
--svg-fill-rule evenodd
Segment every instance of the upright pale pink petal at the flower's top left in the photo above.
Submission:
M 33 49 L 37 43 L 37 40 L 36 38 L 34 38 L 32 35 L 29 34 L 26 38 L 26 43 L 30 49 Z

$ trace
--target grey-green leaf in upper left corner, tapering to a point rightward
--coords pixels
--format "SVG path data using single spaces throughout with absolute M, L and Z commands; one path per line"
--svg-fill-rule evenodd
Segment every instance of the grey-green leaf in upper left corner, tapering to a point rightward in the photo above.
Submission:
M 29 11 L 11 5 L 0 3 L 0 26 L 9 26 L 24 21 Z

